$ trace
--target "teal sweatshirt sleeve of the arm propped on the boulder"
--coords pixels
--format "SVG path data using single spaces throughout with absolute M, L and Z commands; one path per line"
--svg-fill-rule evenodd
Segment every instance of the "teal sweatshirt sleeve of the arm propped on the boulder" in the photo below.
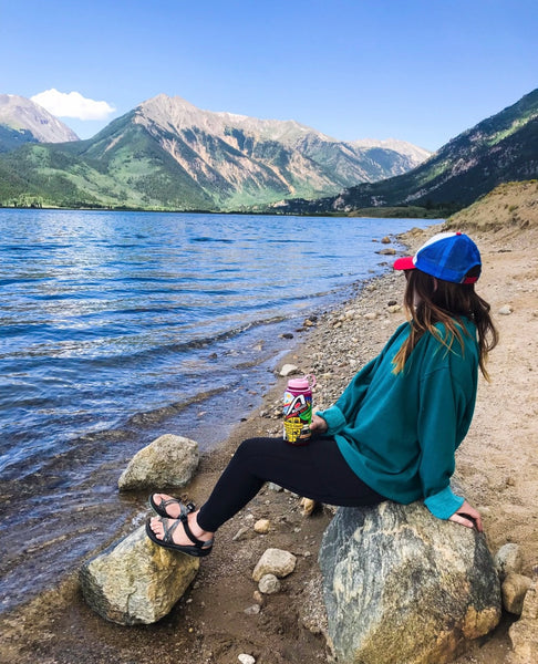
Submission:
M 451 489 L 455 469 L 457 423 L 465 409 L 465 394 L 448 367 L 424 376 L 421 383 L 418 440 L 424 504 L 439 519 L 448 519 L 464 498 Z

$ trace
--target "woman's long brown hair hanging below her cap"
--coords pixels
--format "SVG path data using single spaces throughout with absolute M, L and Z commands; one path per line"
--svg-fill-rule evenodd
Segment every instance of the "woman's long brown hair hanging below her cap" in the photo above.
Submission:
M 474 268 L 467 277 L 477 277 L 479 268 Z M 489 380 L 486 361 L 489 351 L 498 343 L 498 333 L 489 315 L 490 305 L 475 292 L 474 283 L 452 283 L 435 279 L 421 270 L 407 270 L 407 287 L 404 307 L 411 323 L 411 333 L 394 355 L 394 373 L 400 373 L 420 339 L 430 332 L 451 351 L 454 340 L 462 347 L 463 334 L 467 331 L 462 318 L 474 321 L 478 332 L 479 366 L 486 380 Z M 443 336 L 435 323 L 443 323 L 446 335 Z

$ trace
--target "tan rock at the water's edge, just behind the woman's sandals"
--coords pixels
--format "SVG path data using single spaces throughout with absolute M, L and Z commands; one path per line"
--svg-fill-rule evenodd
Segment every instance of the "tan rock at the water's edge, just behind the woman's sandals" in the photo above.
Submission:
M 184 487 L 193 478 L 198 461 L 195 440 L 165 434 L 135 454 L 117 486 L 121 491 Z

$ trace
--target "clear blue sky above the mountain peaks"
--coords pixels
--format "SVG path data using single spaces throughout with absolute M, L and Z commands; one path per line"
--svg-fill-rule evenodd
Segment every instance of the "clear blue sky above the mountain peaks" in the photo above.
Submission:
M 537 34 L 537 0 L 0 0 L 0 93 L 83 138 L 166 93 L 434 151 L 538 87 Z

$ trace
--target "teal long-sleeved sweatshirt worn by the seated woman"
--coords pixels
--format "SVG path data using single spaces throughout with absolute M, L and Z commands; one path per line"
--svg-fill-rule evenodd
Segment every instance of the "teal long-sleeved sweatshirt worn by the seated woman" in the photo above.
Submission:
M 476 326 L 463 322 L 463 347 L 455 339 L 448 351 L 426 333 L 394 374 L 393 357 L 411 330 L 402 324 L 335 405 L 318 413 L 364 483 L 396 502 L 424 499 L 439 519 L 448 519 L 464 501 L 453 494 L 451 477 L 476 400 Z M 444 325 L 436 329 L 446 336 Z

